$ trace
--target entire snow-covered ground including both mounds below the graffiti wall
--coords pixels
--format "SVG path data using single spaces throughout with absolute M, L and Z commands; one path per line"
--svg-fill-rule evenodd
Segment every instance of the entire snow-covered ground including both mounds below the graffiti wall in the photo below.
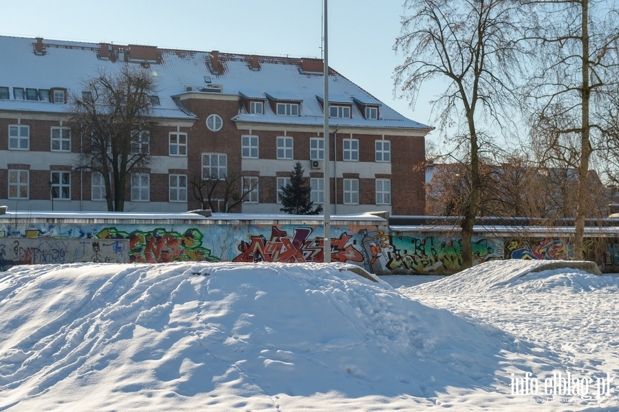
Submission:
M 0 272 L 0 411 L 619 411 L 619 279 L 349 267 Z

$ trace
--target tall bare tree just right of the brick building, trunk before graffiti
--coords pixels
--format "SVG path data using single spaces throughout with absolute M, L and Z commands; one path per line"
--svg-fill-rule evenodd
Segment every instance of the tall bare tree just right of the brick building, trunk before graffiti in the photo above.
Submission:
M 395 68 L 395 87 L 414 105 L 424 82 L 447 82 L 435 108 L 442 131 L 458 128 L 451 154 L 467 169 L 461 237 L 463 267 L 468 268 L 481 204 L 481 158 L 494 149 L 492 135 L 480 124 L 507 120 L 506 106 L 514 99 L 511 73 L 517 65 L 516 44 L 510 39 L 522 10 L 510 0 L 406 0 L 404 5 L 410 15 L 402 17 L 394 49 L 406 59 Z

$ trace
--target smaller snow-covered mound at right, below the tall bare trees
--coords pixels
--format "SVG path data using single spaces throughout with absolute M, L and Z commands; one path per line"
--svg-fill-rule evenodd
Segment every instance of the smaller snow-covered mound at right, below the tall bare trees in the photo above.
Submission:
M 543 261 L 508 259 L 489 261 L 450 275 L 439 281 L 420 285 L 420 290 L 432 293 L 484 293 L 500 288 L 510 288 L 516 283 L 530 279 L 536 274 L 536 279 L 561 274 L 566 271 L 578 274 L 599 274 L 597 265 L 588 261 Z M 541 272 L 537 274 L 536 272 Z M 550 287 L 550 285 L 549 285 Z

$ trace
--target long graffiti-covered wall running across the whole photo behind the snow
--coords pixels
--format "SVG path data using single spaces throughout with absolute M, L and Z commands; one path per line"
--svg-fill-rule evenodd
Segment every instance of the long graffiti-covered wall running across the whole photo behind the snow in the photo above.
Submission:
M 376 224 L 334 225 L 331 261 L 375 274 L 448 274 L 462 268 L 459 237 L 389 232 Z M 0 270 L 17 264 L 324 261 L 321 224 L 24 224 L 0 223 Z M 474 262 L 570 259 L 568 239 L 474 237 Z M 619 268 L 617 239 L 586 239 L 585 257 Z

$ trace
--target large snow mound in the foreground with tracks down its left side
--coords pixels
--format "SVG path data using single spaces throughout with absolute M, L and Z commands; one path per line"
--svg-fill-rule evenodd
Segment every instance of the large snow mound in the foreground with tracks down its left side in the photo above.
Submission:
M 0 279 L 0 409 L 291 410 L 307 398 L 365 409 L 371 396 L 410 406 L 473 392 L 506 402 L 510 372 L 550 367 L 496 327 L 346 268 L 14 267 Z

